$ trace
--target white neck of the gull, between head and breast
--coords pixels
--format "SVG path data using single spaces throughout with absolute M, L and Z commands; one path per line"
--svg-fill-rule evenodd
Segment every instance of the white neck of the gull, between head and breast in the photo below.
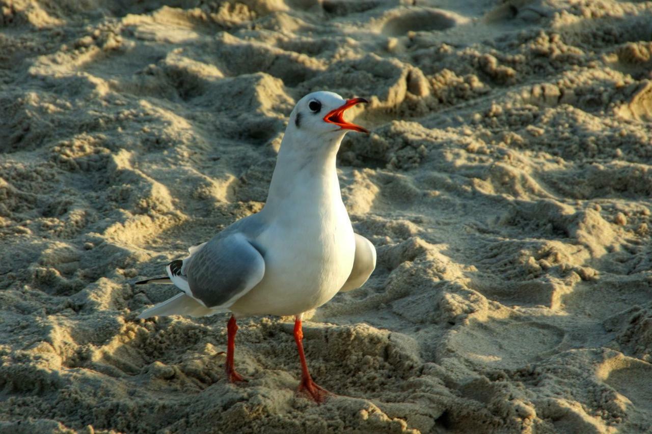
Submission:
M 343 137 L 344 132 L 315 137 L 288 128 L 276 158 L 265 210 L 280 215 L 292 209 L 323 209 L 321 205 L 333 201 L 341 204 L 335 160 Z

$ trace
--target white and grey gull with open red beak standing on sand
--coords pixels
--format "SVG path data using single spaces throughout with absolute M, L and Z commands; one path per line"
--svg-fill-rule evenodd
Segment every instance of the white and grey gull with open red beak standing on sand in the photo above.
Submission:
M 263 209 L 190 247 L 185 259 L 166 266 L 167 276 L 137 282 L 181 290 L 138 318 L 230 311 L 225 368 L 228 380 L 237 383 L 246 380 L 233 364 L 236 319 L 293 315 L 302 370 L 299 392 L 321 403 L 330 392 L 308 371 L 303 313 L 340 291 L 361 287 L 376 268 L 376 248 L 353 232 L 335 167 L 344 135 L 349 130 L 368 134 L 345 121 L 344 111 L 367 102 L 326 91 L 301 98 L 290 113 Z

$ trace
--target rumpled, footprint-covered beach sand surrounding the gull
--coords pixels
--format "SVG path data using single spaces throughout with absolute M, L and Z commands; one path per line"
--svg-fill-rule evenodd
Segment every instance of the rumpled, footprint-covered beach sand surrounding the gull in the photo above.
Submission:
M 413 5 L 416 3 L 416 5 Z M 0 1 L 2 433 L 652 426 L 652 5 Z M 135 319 L 261 209 L 294 102 L 349 117 L 378 268 L 306 322 Z

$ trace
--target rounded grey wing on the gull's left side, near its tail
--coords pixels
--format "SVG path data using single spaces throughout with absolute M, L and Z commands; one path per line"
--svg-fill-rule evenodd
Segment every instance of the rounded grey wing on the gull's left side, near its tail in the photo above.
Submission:
M 240 232 L 215 237 L 184 263 L 190 296 L 207 308 L 229 308 L 263 280 L 265 260 Z

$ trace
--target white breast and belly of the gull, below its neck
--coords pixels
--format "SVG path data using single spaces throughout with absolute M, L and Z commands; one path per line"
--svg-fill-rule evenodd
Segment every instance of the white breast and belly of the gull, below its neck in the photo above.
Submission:
M 236 316 L 298 315 L 321 306 L 351 274 L 355 238 L 344 205 L 329 216 L 272 224 L 256 240 L 265 251 L 265 276 L 237 300 Z

